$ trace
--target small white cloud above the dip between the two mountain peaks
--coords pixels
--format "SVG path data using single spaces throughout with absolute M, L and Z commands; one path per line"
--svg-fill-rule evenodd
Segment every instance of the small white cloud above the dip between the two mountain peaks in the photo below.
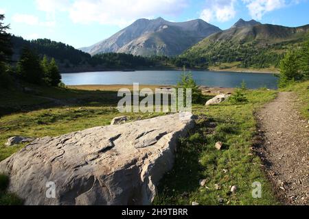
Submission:
M 200 18 L 207 22 L 229 21 L 236 16 L 236 3 L 236 0 L 207 0 L 207 8 L 201 12 Z

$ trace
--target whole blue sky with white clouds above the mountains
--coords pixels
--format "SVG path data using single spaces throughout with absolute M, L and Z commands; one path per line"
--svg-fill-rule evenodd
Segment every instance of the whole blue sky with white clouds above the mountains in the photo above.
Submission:
M 201 18 L 228 29 L 239 18 L 298 27 L 309 24 L 309 0 L 0 0 L 10 33 L 73 47 L 104 40 L 139 18 Z

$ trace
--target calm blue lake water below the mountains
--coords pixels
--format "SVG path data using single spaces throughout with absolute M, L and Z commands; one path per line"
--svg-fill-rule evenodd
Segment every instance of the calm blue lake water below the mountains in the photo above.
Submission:
M 145 85 L 176 85 L 182 71 L 178 70 L 137 70 L 133 72 L 107 71 L 95 73 L 65 73 L 62 82 L 66 85 L 111 85 L 133 84 Z M 273 74 L 231 73 L 192 71 L 199 86 L 236 88 L 242 81 L 251 89 L 277 88 L 277 77 Z

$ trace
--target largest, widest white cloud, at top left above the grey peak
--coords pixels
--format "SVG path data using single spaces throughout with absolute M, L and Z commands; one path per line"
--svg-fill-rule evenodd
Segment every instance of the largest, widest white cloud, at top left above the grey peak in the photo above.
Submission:
M 128 25 L 138 18 L 174 15 L 181 12 L 189 0 L 36 0 L 38 10 L 49 17 L 56 11 L 68 11 L 74 23 Z

